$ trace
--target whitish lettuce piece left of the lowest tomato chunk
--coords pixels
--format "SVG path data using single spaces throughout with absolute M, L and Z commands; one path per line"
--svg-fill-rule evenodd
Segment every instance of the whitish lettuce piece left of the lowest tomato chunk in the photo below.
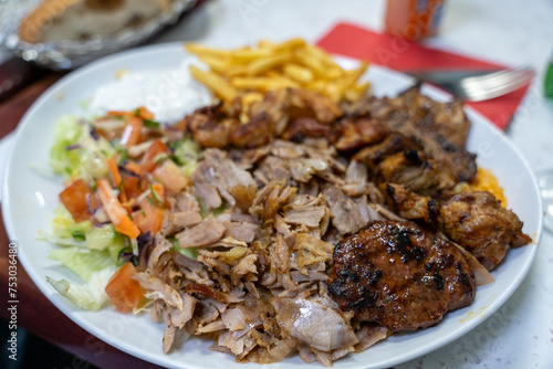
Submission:
M 105 293 L 105 287 L 116 270 L 117 267 L 115 265 L 109 265 L 103 270 L 94 272 L 91 275 L 88 283 L 83 285 L 71 285 L 65 280 L 55 281 L 49 276 L 46 276 L 46 281 L 55 288 L 55 291 L 80 308 L 97 312 L 106 302 L 109 301 L 109 297 Z

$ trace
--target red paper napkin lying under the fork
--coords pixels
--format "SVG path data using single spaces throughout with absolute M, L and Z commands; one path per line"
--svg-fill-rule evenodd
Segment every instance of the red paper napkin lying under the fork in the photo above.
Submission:
M 317 44 L 331 53 L 367 60 L 371 63 L 396 71 L 505 67 L 501 64 L 430 49 L 416 42 L 377 33 L 348 23 L 336 24 Z M 467 105 L 473 107 L 499 128 L 505 130 L 528 87 L 529 85 L 500 97 L 484 102 L 467 103 Z

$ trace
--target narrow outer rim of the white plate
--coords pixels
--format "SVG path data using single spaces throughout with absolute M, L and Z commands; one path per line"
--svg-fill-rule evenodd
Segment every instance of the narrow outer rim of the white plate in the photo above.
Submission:
M 82 68 L 79 68 L 79 70 L 65 75 L 64 77 L 62 77 L 60 81 L 58 81 L 56 83 L 51 85 L 45 92 L 43 92 L 41 94 L 41 96 L 31 105 L 31 107 L 25 112 L 25 114 L 23 115 L 23 117 L 20 119 L 20 122 L 18 124 L 18 127 L 15 129 L 15 135 L 14 135 L 14 143 L 13 143 L 13 146 L 10 150 L 9 156 L 8 156 L 7 166 L 4 168 L 6 175 L 4 175 L 4 181 L 3 181 L 3 188 L 2 188 L 3 198 L 2 198 L 1 207 L 2 207 L 2 215 L 4 219 L 4 225 L 6 225 L 6 230 L 7 230 L 10 242 L 12 240 L 14 240 L 13 236 L 15 235 L 15 230 L 14 230 L 14 224 L 12 223 L 12 219 L 11 219 L 11 214 L 10 214 L 10 209 L 11 209 L 12 204 L 11 204 L 11 199 L 9 197 L 9 192 L 10 192 L 10 184 L 9 184 L 10 176 L 9 176 L 9 173 L 11 172 L 11 167 L 13 166 L 14 148 L 18 145 L 18 143 L 20 141 L 24 128 L 31 124 L 32 120 L 30 119 L 30 117 L 33 116 L 34 112 L 39 110 L 42 107 L 42 105 L 45 104 L 45 102 L 49 99 L 49 97 L 53 94 L 53 91 L 62 88 L 64 85 L 69 84 L 71 81 L 80 78 L 82 75 L 93 73 L 94 70 L 96 70 L 96 68 L 101 68 L 101 67 L 109 65 L 114 62 L 124 62 L 126 59 L 135 59 L 135 57 L 138 57 L 140 54 L 148 54 L 148 53 L 152 53 L 154 51 L 169 51 L 169 52 L 175 51 L 176 52 L 178 46 L 180 46 L 182 53 L 186 54 L 186 51 L 184 50 L 184 44 L 181 42 L 167 42 L 167 43 L 159 43 L 159 44 L 154 44 L 154 45 L 135 48 L 135 49 L 126 50 L 124 52 L 119 52 L 119 53 L 115 53 L 115 54 L 102 57 L 102 59 L 94 61 L 91 64 L 83 66 Z M 388 70 L 388 68 L 383 67 L 383 66 L 377 66 L 377 67 L 382 68 L 382 70 L 390 71 L 390 72 L 396 73 L 396 74 L 401 75 L 401 76 L 405 76 L 400 72 L 392 71 L 392 70 Z M 441 96 L 447 95 L 447 93 L 445 93 L 444 91 L 441 91 L 437 87 L 434 87 L 434 86 L 427 85 L 426 88 L 435 89 L 436 93 L 441 95 Z M 463 325 L 463 327 L 460 329 L 460 331 L 461 331 L 460 334 L 458 333 L 459 330 L 456 330 L 455 334 L 446 335 L 445 336 L 446 339 L 440 339 L 440 340 L 437 340 L 432 344 L 425 345 L 424 351 L 417 350 L 417 351 L 411 352 L 410 356 L 403 356 L 401 359 L 399 359 L 399 360 L 386 361 L 386 365 L 388 365 L 388 366 L 395 366 L 395 365 L 399 365 L 403 362 L 407 362 L 407 361 L 413 360 L 413 359 L 420 357 L 422 355 L 432 352 L 432 351 L 450 344 L 451 341 L 466 336 L 469 331 L 474 329 L 477 326 L 481 325 L 488 317 L 493 315 L 501 306 L 503 306 L 505 304 L 505 302 L 519 288 L 522 281 L 528 276 L 530 267 L 532 266 L 533 262 L 535 261 L 535 254 L 536 254 L 538 247 L 540 245 L 540 241 L 542 239 L 542 234 L 543 234 L 543 203 L 542 203 L 541 197 L 539 196 L 540 191 L 539 191 L 538 182 L 535 179 L 535 175 L 531 170 L 531 167 L 529 166 L 525 157 L 522 155 L 520 149 L 517 146 L 514 146 L 514 144 L 511 141 L 511 139 L 503 131 L 501 131 L 498 127 L 495 127 L 487 117 L 484 117 L 479 112 L 474 110 L 472 107 L 465 106 L 465 109 L 469 116 L 471 116 L 471 115 L 476 116 L 481 123 L 486 124 L 488 126 L 488 128 L 491 128 L 491 131 L 500 140 L 502 140 L 504 144 L 507 144 L 507 146 L 511 150 L 513 150 L 513 152 L 517 155 L 517 157 L 520 158 L 521 162 L 524 165 L 525 169 L 530 173 L 530 179 L 531 179 L 532 184 L 533 184 L 533 190 L 538 194 L 538 204 L 539 204 L 538 232 L 536 232 L 535 236 L 532 235 L 533 242 L 530 245 L 528 245 L 528 246 L 532 247 L 531 255 L 530 255 L 529 260 L 524 263 L 522 273 L 520 273 L 518 275 L 517 280 L 509 285 L 509 288 L 500 296 L 501 298 L 495 299 L 492 305 L 488 306 L 488 308 L 486 310 L 486 316 L 483 316 L 479 319 L 471 319 L 470 321 L 467 321 Z M 17 242 L 17 240 L 15 240 L 15 242 Z M 31 266 L 32 263 L 27 261 L 24 253 L 22 255 L 23 255 L 23 257 L 20 256 L 19 250 L 18 250 L 18 259 L 21 261 L 21 264 L 23 265 L 23 267 L 25 267 L 27 265 Z M 25 267 L 25 271 L 29 274 L 29 276 L 31 277 L 31 280 L 33 281 L 33 283 L 38 287 L 43 284 L 42 283 L 43 276 L 38 275 L 38 271 L 34 271 L 33 268 L 28 270 L 27 267 Z M 167 365 L 167 362 L 159 359 L 159 356 L 157 354 L 150 355 L 150 352 L 143 352 L 143 351 L 133 350 L 133 347 L 125 345 L 125 342 L 122 339 L 108 339 L 108 340 L 106 340 L 106 338 L 109 338 L 109 337 L 105 337 L 105 335 L 100 335 L 100 337 L 102 337 L 102 338 L 100 338 L 97 335 L 98 328 L 95 327 L 92 323 L 87 323 L 86 319 L 81 318 L 81 317 L 72 314 L 67 304 L 62 303 L 62 299 L 61 299 L 62 296 L 59 296 L 60 298 L 53 298 L 52 293 L 46 294 L 43 291 L 43 288 L 41 288 L 41 287 L 39 287 L 39 289 L 41 291 L 42 294 L 45 295 L 45 297 L 56 308 L 59 308 L 66 317 L 69 317 L 71 320 L 73 320 L 76 325 L 79 325 L 80 327 L 85 329 L 88 334 L 97 337 L 98 339 L 105 341 L 106 344 L 108 344 L 117 349 L 123 350 L 124 352 L 126 352 L 131 356 L 138 357 L 143 360 L 146 360 L 146 361 L 149 361 L 153 363 L 157 363 L 157 365 L 163 365 L 163 366 Z M 340 360 L 336 363 L 338 363 L 338 362 L 340 362 Z M 196 368 L 196 366 L 189 365 L 189 363 L 186 363 L 186 366 L 189 368 Z M 279 363 L 269 365 L 267 367 L 269 368 L 269 367 L 275 367 L 275 366 L 278 367 Z

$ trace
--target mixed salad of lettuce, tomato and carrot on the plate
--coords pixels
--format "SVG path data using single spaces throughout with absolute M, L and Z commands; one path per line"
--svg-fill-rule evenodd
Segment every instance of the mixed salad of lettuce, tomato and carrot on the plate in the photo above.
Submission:
M 98 310 L 112 302 L 129 313 L 147 304 L 132 276 L 146 266 L 167 196 L 187 186 L 201 155 L 180 128 L 161 125 L 145 107 L 58 122 L 51 166 L 66 180 L 52 233 L 41 239 L 60 245 L 50 256 L 84 281 L 70 285 L 48 277 L 79 307 Z M 181 249 L 177 241 L 174 246 L 196 256 L 195 249 Z

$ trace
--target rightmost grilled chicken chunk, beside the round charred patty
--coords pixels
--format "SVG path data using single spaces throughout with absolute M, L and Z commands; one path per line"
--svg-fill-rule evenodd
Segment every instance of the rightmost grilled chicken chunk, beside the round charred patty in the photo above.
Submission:
M 509 244 L 519 247 L 532 241 L 522 233 L 517 214 L 487 191 L 461 192 L 441 201 L 439 228 L 488 270 L 503 260 Z

